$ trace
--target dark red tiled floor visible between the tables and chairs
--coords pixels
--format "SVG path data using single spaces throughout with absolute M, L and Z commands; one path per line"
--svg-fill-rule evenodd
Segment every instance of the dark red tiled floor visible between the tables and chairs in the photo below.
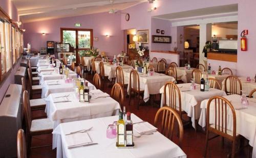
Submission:
M 89 81 L 91 81 L 91 77 L 89 77 Z M 111 88 L 105 86 L 105 92 L 110 93 Z M 126 89 L 125 89 L 126 91 Z M 156 97 L 159 99 L 159 96 Z M 125 106 L 126 111 L 130 111 L 136 114 L 141 119 L 148 121 L 153 124 L 155 114 L 159 108 L 155 104 L 155 107 L 148 105 L 140 107 L 137 110 L 137 102 L 134 98 L 131 100 L 131 106 L 129 106 L 129 98 L 125 98 Z M 33 112 L 33 117 L 45 115 L 44 111 Z M 174 142 L 177 143 L 178 139 L 174 138 Z M 44 135 L 33 137 L 32 146 L 40 146 L 47 145 L 52 143 L 52 136 Z M 207 151 L 207 157 L 227 157 L 227 154 L 231 151 L 231 142 L 225 141 L 224 147 L 221 145 L 221 138 L 216 138 L 209 141 Z M 182 150 L 187 154 L 187 157 L 203 157 L 205 147 L 205 134 L 201 131 L 195 131 L 194 128 L 188 126 L 184 128 L 184 136 L 182 143 Z M 248 157 L 248 147 L 244 148 L 241 152 L 239 152 L 236 157 Z M 52 147 L 41 147 L 31 149 L 30 157 L 56 157 L 56 149 L 52 150 Z

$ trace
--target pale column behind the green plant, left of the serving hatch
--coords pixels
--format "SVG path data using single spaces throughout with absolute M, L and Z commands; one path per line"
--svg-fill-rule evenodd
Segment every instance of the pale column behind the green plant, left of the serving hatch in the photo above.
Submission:
M 211 23 L 200 24 L 199 63 L 203 64 L 204 66 L 207 66 L 204 62 L 207 60 L 207 58 L 204 57 L 203 53 L 203 48 L 206 41 L 211 41 Z

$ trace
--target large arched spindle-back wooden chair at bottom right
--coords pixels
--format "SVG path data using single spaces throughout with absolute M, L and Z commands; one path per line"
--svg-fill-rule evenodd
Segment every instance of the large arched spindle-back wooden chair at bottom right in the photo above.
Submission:
M 212 107 L 212 108 L 210 108 Z M 210 113 L 210 109 L 215 109 Z M 230 109 L 230 116 L 227 114 L 227 108 Z M 215 119 L 212 120 L 210 123 L 209 118 L 210 115 L 214 115 Z M 227 122 L 229 121 L 227 118 L 232 119 L 233 121 L 233 130 L 227 129 Z M 209 133 L 214 133 L 217 136 L 214 136 L 212 138 L 209 138 Z M 224 138 L 232 141 L 232 152 L 231 157 L 234 157 L 235 154 L 235 147 L 236 147 L 236 141 L 239 138 L 240 135 L 237 134 L 237 119 L 236 119 L 236 112 L 234 111 L 234 108 L 232 104 L 224 97 L 221 96 L 214 96 L 211 97 L 207 103 L 207 114 L 206 114 L 206 143 L 205 143 L 205 152 L 204 157 L 207 154 L 207 147 L 208 147 L 208 141 L 216 138 L 218 136 L 222 137 L 222 143 L 224 142 Z

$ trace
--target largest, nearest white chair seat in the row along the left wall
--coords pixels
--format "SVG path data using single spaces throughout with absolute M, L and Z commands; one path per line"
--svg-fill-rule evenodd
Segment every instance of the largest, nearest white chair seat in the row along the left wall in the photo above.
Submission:
M 32 120 L 30 132 L 52 130 L 53 122 L 49 118 Z

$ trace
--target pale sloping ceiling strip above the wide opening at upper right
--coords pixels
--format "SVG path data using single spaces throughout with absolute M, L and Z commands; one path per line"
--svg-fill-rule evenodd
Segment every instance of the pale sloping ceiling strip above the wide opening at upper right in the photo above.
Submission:
M 238 12 L 238 4 L 189 10 L 189 11 L 183 11 L 183 12 L 177 12 L 177 13 L 158 15 L 155 17 L 176 21 L 176 20 L 182 20 L 184 18 L 192 18 L 192 17 L 201 18 L 202 16 L 207 16 L 207 15 L 209 16 L 209 15 L 219 14 L 221 16 L 221 14 L 224 14 L 224 13 L 234 13 L 234 12 Z

